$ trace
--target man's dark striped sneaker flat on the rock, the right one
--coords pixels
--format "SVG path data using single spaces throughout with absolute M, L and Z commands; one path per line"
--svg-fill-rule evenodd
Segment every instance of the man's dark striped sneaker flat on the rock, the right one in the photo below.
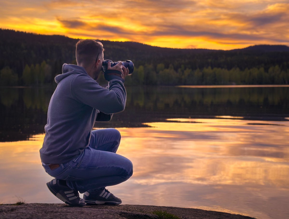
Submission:
M 91 192 L 84 192 L 83 200 L 87 204 L 106 204 L 106 205 L 119 205 L 121 199 L 115 197 L 104 187 Z

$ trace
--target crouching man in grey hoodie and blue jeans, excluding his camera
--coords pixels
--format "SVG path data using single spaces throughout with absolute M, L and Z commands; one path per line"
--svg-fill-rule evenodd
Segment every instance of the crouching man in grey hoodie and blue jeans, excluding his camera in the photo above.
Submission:
M 64 64 L 48 107 L 40 157 L 45 171 L 55 177 L 49 190 L 71 206 L 121 204 L 105 186 L 132 175 L 129 159 L 116 154 L 121 135 L 113 128 L 92 130 L 95 121 L 109 121 L 125 108 L 123 85 L 129 73 L 121 62 L 105 72 L 107 89 L 95 81 L 103 62 L 103 45 L 95 40 L 76 44 L 77 65 Z M 79 193 L 84 198 L 79 198 Z

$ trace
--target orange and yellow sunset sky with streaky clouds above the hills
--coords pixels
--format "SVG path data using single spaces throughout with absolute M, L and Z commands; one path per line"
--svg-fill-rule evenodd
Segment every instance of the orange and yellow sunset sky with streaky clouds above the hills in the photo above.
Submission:
M 289 46 L 289 0 L 0 0 L 0 28 L 171 48 Z

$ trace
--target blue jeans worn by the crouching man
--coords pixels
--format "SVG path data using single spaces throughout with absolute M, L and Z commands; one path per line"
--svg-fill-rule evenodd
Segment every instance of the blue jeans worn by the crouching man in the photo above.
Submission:
M 80 193 L 90 189 L 116 185 L 126 181 L 132 175 L 132 163 L 129 159 L 116 154 L 121 134 L 114 128 L 93 130 L 89 147 L 78 157 L 45 171 L 57 179 L 66 180 L 67 185 Z

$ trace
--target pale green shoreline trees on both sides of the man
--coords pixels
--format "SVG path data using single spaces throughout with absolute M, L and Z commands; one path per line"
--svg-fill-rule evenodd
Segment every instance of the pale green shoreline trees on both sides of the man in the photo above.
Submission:
M 25 65 L 19 78 L 9 67 L 0 71 L 0 85 L 6 86 L 40 86 L 54 83 L 51 66 L 45 61 L 40 64 Z M 107 82 L 101 73 L 99 84 Z M 163 63 L 140 65 L 134 69 L 131 76 L 126 77 L 126 85 L 239 85 L 239 84 L 288 84 L 289 69 L 282 69 L 279 65 L 271 66 L 268 71 L 264 67 L 240 70 L 232 68 L 205 67 L 203 69 L 181 68 L 175 70 L 170 64 L 165 68 Z

